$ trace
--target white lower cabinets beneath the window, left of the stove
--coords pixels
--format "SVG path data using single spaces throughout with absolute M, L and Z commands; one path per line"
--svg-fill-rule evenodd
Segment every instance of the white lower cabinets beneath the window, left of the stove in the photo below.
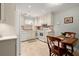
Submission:
M 20 41 L 26 41 L 36 38 L 36 32 L 33 30 L 21 31 L 20 32 Z

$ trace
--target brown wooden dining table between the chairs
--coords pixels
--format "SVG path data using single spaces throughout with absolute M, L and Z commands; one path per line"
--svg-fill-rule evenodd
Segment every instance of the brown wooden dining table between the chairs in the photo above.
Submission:
M 69 55 L 73 56 L 74 52 L 74 46 L 76 45 L 77 38 L 68 38 L 63 35 L 55 36 L 61 40 L 61 43 L 64 45 L 64 47 L 67 49 L 67 46 L 71 47 L 71 52 L 69 52 Z

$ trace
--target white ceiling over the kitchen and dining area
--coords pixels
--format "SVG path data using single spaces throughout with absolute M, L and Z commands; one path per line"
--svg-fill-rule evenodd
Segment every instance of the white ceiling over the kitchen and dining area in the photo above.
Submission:
M 79 3 L 17 3 L 17 8 L 21 10 L 23 15 L 31 15 L 33 17 L 41 16 L 47 13 L 57 13 L 79 6 Z

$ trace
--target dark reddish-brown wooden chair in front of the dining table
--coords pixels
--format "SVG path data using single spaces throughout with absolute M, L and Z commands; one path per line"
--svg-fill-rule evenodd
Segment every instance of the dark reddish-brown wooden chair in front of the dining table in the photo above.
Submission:
M 62 43 L 59 38 L 47 36 L 47 44 L 49 48 L 49 55 L 67 55 L 67 49 L 62 46 Z

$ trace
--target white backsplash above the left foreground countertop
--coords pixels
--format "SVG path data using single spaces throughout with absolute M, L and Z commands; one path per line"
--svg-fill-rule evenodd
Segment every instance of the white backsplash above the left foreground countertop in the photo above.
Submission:
M 0 23 L 0 35 L 1 36 L 15 36 L 16 31 L 12 26 L 5 23 Z

